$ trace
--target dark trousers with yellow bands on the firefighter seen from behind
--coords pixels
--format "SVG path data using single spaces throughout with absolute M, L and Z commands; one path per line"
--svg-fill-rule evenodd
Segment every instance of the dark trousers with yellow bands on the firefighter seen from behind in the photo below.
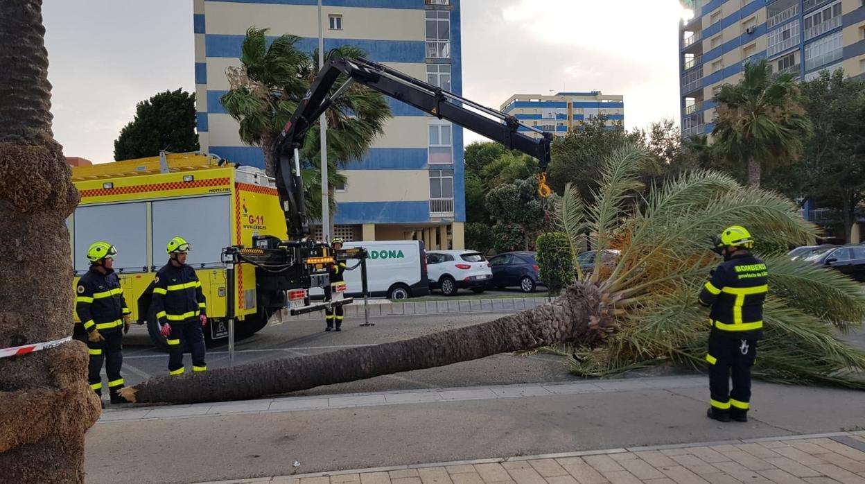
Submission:
M 708 337 L 708 386 L 714 413 L 744 414 L 751 402 L 751 367 L 757 358 L 756 339 L 734 339 L 711 333 Z M 730 380 L 733 389 L 730 390 Z

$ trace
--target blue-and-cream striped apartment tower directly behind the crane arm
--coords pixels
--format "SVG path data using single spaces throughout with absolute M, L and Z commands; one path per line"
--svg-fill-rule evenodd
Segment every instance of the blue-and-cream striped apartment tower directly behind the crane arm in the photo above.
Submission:
M 194 0 L 195 91 L 202 151 L 264 166 L 257 146 L 240 141 L 220 103 L 226 68 L 240 65 L 248 28 L 302 38 L 317 48 L 317 0 Z M 460 0 L 323 0 L 324 48 L 354 44 L 413 77 L 462 94 Z M 334 236 L 346 240 L 423 240 L 463 248 L 463 128 L 391 100 L 394 115 L 368 155 L 344 166 Z

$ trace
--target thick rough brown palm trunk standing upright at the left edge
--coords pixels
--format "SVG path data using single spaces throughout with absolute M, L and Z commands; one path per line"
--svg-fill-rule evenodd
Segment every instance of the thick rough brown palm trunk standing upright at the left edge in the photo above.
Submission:
M 64 224 L 78 203 L 51 133 L 42 1 L 0 2 L 0 348 L 72 333 Z M 0 481 L 83 482 L 99 417 L 79 342 L 0 358 Z

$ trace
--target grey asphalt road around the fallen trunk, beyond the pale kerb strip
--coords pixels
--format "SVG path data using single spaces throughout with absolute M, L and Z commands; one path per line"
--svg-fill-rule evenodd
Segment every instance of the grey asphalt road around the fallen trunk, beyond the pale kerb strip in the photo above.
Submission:
M 347 317 L 342 332 L 324 332 L 324 319 L 291 321 L 277 326 L 268 326 L 252 337 L 239 341 L 235 345 L 234 365 L 272 358 L 332 352 L 352 346 L 377 345 L 455 327 L 471 326 L 500 316 L 497 314 L 388 316 L 375 319 L 373 321 L 375 326 L 363 327 L 359 326 L 362 319 Z M 192 365 L 189 353 L 184 355 L 183 362 L 186 366 Z M 209 351 L 207 364 L 208 369 L 226 367 L 227 348 L 221 346 Z M 159 352 L 150 345 L 147 332 L 142 326 L 133 326 L 125 338 L 123 375 L 126 384 L 137 384 L 146 378 L 163 376 L 167 373 L 168 354 Z M 298 394 L 319 395 L 580 379 L 567 372 L 565 358 L 540 354 L 529 357 L 502 354 L 440 368 L 408 371 L 399 375 L 320 387 Z

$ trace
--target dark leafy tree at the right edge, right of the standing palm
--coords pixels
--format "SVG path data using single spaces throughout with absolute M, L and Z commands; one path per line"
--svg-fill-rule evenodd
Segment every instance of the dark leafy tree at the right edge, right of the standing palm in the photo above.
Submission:
M 813 136 L 805 145 L 804 164 L 793 171 L 791 191 L 807 193 L 822 207 L 842 216 L 849 236 L 856 208 L 865 200 L 865 81 L 843 70 L 823 71 L 801 84 Z M 795 195 L 794 195 L 795 196 Z

